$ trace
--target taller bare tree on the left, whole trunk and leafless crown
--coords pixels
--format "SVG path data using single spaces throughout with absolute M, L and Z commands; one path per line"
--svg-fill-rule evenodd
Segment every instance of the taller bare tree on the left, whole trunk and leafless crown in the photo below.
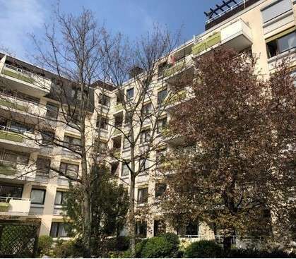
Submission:
M 13 109 L 18 109 L 18 100 L 11 102 L 7 114 L 2 114 L 5 120 L 18 121 L 23 125 L 32 124 L 32 132 L 28 135 L 20 127 L 14 127 L 18 135 L 34 141 L 42 147 L 50 146 L 55 150 L 54 155 L 68 156 L 70 160 L 80 164 L 80 174 L 77 165 L 64 163 L 52 164 L 49 159 L 37 159 L 35 167 L 31 163 L 31 171 L 26 171 L 21 177 L 32 171 L 53 171 L 59 176 L 75 181 L 83 188 L 83 243 L 85 257 L 90 257 L 90 239 L 92 225 L 92 207 L 89 192 L 97 173 L 105 169 L 107 153 L 100 143 L 101 121 L 103 111 L 95 107 L 100 102 L 101 95 L 112 90 L 109 83 L 104 82 L 102 40 L 106 37 L 105 29 L 95 22 L 90 11 L 83 10 L 79 16 L 64 15 L 59 8 L 54 12 L 55 21 L 51 26 L 45 27 L 45 37 L 38 40 L 32 36 L 37 49 L 34 63 L 30 66 L 22 61 L 6 58 L 6 65 L 11 64 L 20 80 L 34 84 L 39 90 L 44 90 L 46 96 L 52 101 L 47 107 L 39 105 L 41 112 L 33 111 L 28 104 L 23 116 L 16 116 Z M 6 71 L 7 72 L 7 71 Z M 4 92 L 11 94 L 9 76 L 4 78 Z M 100 79 L 100 80 L 99 80 Z M 14 97 L 18 93 L 13 93 Z M 7 100 L 7 96 L 1 97 Z M 44 112 L 46 111 L 46 112 Z M 95 113 L 96 112 L 96 113 Z M 106 114 L 105 114 L 106 116 Z M 34 118 L 33 118 L 34 117 Z M 30 118 L 33 118 L 32 120 Z M 7 127 L 6 127 L 7 128 Z M 59 128 L 68 128 L 73 135 L 60 135 Z M 57 131 L 56 131 L 57 130 Z M 76 138 L 73 136 L 77 136 Z M 106 140 L 107 141 L 107 140 Z M 93 168 L 99 168 L 93 170 Z M 96 173 L 94 173 L 96 172 Z

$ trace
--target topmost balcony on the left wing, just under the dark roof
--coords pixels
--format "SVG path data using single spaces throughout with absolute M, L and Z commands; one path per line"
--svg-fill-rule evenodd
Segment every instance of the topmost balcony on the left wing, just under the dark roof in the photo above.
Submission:
M 21 89 L 22 92 L 36 97 L 47 95 L 52 85 L 51 80 L 47 78 L 42 78 L 42 76 L 37 76 L 8 64 L 5 64 L 0 76 L 8 81 L 11 88 Z

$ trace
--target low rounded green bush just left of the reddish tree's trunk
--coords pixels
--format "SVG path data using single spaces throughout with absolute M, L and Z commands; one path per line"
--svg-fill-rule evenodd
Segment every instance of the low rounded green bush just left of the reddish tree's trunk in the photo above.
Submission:
M 215 241 L 197 241 L 191 243 L 184 252 L 185 258 L 220 258 L 223 249 Z

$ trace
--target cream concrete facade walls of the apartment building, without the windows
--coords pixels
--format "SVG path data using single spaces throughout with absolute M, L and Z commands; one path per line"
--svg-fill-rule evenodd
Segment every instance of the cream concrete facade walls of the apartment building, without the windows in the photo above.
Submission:
M 245 4 L 247 1 L 239 2 L 240 4 Z M 279 8 L 275 8 L 275 10 L 268 11 L 268 8 L 273 8 L 274 5 L 277 4 L 290 4 L 290 8 L 284 9 L 283 13 L 276 13 Z M 235 8 L 233 8 L 235 10 Z M 266 12 L 267 10 L 267 12 Z M 266 13 L 265 13 L 266 12 Z M 273 17 L 274 13 L 274 17 Z M 226 16 L 227 12 L 222 13 L 219 17 L 223 18 Z M 268 18 L 266 16 L 268 15 Z M 243 51 L 246 49 L 250 49 L 251 52 L 257 56 L 258 59 L 258 73 L 261 74 L 263 78 L 268 78 L 270 73 L 273 72 L 276 62 L 280 61 L 287 56 L 290 56 L 290 66 L 296 66 L 296 28 L 295 28 L 295 18 L 296 18 L 296 1 L 292 0 L 261 0 L 254 1 L 254 4 L 248 6 L 247 8 L 243 8 L 241 11 L 234 13 L 229 18 L 225 20 L 221 20 L 220 23 L 214 25 L 209 28 L 201 35 L 194 36 L 194 39 L 189 40 L 186 44 L 180 46 L 172 52 L 174 56 L 182 56 L 182 53 L 186 53 L 185 56 L 180 59 L 180 61 L 185 61 L 187 66 L 191 64 L 191 58 L 194 56 L 201 55 L 205 52 L 208 52 L 212 47 L 217 47 L 220 44 L 225 44 L 227 47 L 232 47 L 237 49 L 237 51 Z M 266 20 L 264 20 L 266 19 Z M 211 20 L 210 20 L 211 23 Z M 268 42 L 273 42 L 276 40 L 278 44 L 278 38 L 283 38 L 287 35 L 294 33 L 294 36 L 291 35 L 291 40 L 288 42 L 288 49 L 282 46 L 280 49 L 276 49 L 276 54 L 271 54 L 271 50 L 268 49 Z M 277 36 L 278 35 L 278 38 Z M 272 39 L 274 37 L 274 39 Z M 272 45 L 274 47 L 274 44 Z M 285 42 L 283 43 L 286 44 Z M 184 51 L 184 49 L 186 51 Z M 283 50 L 283 51 L 282 51 Z M 274 50 L 273 50 L 274 51 Z M 54 100 L 51 100 L 46 97 L 49 89 L 38 89 L 36 85 L 24 80 L 25 78 L 16 78 L 13 77 L 13 73 L 16 71 L 15 68 L 11 67 L 6 62 L 6 56 L 2 56 L 0 62 L 0 73 L 2 77 L 5 77 L 6 80 L 9 80 L 9 83 L 13 85 L 13 88 L 19 90 L 20 92 L 24 92 L 27 95 L 31 95 L 39 98 L 39 102 L 30 102 L 30 109 L 35 109 L 36 112 L 47 112 L 47 104 L 57 104 Z M 171 76 L 175 76 L 180 71 L 177 68 L 178 62 L 174 64 L 176 68 L 174 71 L 168 72 L 165 77 L 170 78 Z M 20 71 L 18 71 L 19 73 Z M 21 73 L 21 72 L 20 72 Z M 41 80 L 37 77 L 37 80 Z M 48 79 L 45 79 L 48 80 Z M 51 83 L 48 83 L 49 88 Z M 129 82 L 126 82 L 126 86 L 121 90 L 128 90 L 132 85 Z M 169 84 L 167 87 L 170 87 Z M 163 88 L 163 85 L 161 85 Z M 135 88 L 136 89 L 136 88 Z M 158 92 L 160 91 L 160 86 L 158 86 L 158 78 L 155 78 L 155 84 L 151 91 L 153 92 L 153 96 L 155 96 L 155 102 L 157 102 Z M 101 92 L 100 88 L 96 88 L 96 95 L 98 96 Z M 104 94 L 109 97 L 110 104 L 109 107 L 103 107 L 103 113 L 108 117 L 109 121 L 114 122 L 114 116 L 122 116 L 125 117 L 124 109 L 117 104 L 117 93 L 118 90 L 105 90 Z M 136 93 L 134 93 L 136 95 Z M 11 100 L 12 97 L 2 95 L 1 100 Z M 13 99 L 21 105 L 22 102 L 28 105 L 26 100 Z M 24 104 L 24 105 L 25 105 Z M 95 105 L 100 105 L 98 100 L 95 100 Z M 0 109 L 5 110 L 5 105 L 1 102 Z M 104 112 L 105 111 L 105 112 Z M 16 113 L 20 113 L 20 109 L 17 109 Z M 97 114 L 95 112 L 90 116 L 89 124 L 95 124 L 97 119 Z M 170 113 L 167 113 L 167 119 L 170 119 Z M 72 137 L 79 138 L 77 132 L 73 131 L 73 129 L 64 126 L 63 124 L 59 124 L 56 127 L 55 131 L 56 135 L 59 135 L 61 138 L 64 138 L 64 135 L 69 135 Z M 113 146 L 114 138 L 120 135 L 114 132 L 114 128 L 108 127 L 107 130 L 102 131 L 102 141 L 107 142 L 107 145 L 110 147 Z M 93 141 L 92 138 L 95 138 L 94 135 L 90 135 L 89 141 Z M 121 141 L 121 147 L 123 147 L 123 139 Z M 30 148 L 27 148 L 30 147 Z M 60 147 L 54 147 L 52 150 L 47 150 L 46 148 L 35 147 L 33 144 L 30 146 L 30 143 L 25 143 L 20 141 L 7 140 L 6 138 L 1 138 L 0 135 L 0 148 L 2 150 L 17 150 L 28 153 L 30 156 L 29 160 L 35 161 L 38 156 L 42 155 L 42 157 L 49 157 L 51 159 L 51 165 L 55 165 L 59 167 L 61 162 L 70 162 L 71 164 L 79 165 L 80 161 L 78 159 L 69 159 L 69 156 L 66 154 L 63 155 L 63 150 L 59 150 Z M 120 150 L 123 156 L 129 156 L 129 150 Z M 156 152 L 152 154 L 152 156 L 156 157 Z M 5 162 L 5 159 L 1 159 Z M 28 166 L 28 165 L 27 165 Z M 18 165 L 20 167 L 20 165 Z M 153 169 L 151 169 L 152 171 Z M 21 171 L 21 170 L 20 170 Z M 129 176 L 122 176 L 122 165 L 119 165 L 117 169 L 119 176 L 119 183 L 129 182 Z M 40 221 L 40 235 L 49 235 L 50 229 L 52 228 L 53 222 L 62 222 L 61 216 L 61 205 L 55 205 L 55 199 L 57 196 L 57 192 L 67 191 L 69 188 L 69 183 L 66 179 L 63 179 L 59 176 L 46 177 L 42 175 L 37 175 L 36 173 L 28 174 L 23 179 L 16 177 L 8 176 L 7 174 L 0 174 L 0 183 L 3 186 L 19 186 L 22 188 L 21 197 L 19 200 L 20 203 L 18 208 L 14 211 L 1 212 L 0 215 L 13 215 L 13 219 L 16 220 L 28 220 L 28 219 L 37 219 Z M 128 185 L 126 185 L 128 186 Z M 149 198 L 148 203 L 152 202 L 154 193 L 155 193 L 155 179 L 150 178 L 148 175 L 138 176 L 136 179 L 136 194 L 138 193 L 138 188 L 148 187 Z M 41 204 L 28 204 L 28 200 L 32 199 L 32 189 L 36 190 L 45 190 L 45 198 L 43 203 Z M 40 193 L 39 193 L 40 194 Z M 11 203 L 11 201 L 9 201 Z M 16 205 L 13 205 L 14 208 Z M 10 213 L 10 214 L 9 214 Z M 155 219 L 158 217 L 158 212 L 155 212 Z M 154 218 L 153 218 L 154 219 Z M 147 236 L 153 236 L 153 219 L 148 222 L 148 230 Z M 206 224 L 199 224 L 199 231 L 195 234 L 188 234 L 185 236 L 192 239 L 213 239 L 213 232 L 206 226 Z

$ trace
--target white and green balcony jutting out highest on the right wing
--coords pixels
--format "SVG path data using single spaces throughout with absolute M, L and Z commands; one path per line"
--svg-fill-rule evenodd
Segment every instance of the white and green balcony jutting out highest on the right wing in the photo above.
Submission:
M 206 35 L 206 37 L 201 38 L 194 37 L 192 54 L 200 55 L 222 44 L 225 47 L 235 49 L 237 52 L 251 47 L 251 44 L 253 44 L 251 28 L 242 19 L 239 19 L 221 30 L 213 32 L 209 36 Z

